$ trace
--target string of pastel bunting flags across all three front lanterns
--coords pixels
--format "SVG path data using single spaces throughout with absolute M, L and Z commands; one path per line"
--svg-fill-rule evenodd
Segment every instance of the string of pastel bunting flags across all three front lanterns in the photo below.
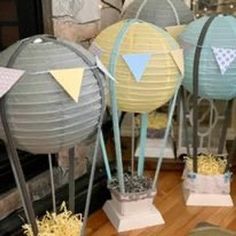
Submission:
M 93 50 L 96 49 L 96 53 L 101 56 L 102 52 L 97 45 L 93 44 Z M 219 66 L 220 72 L 224 75 L 229 69 L 232 63 L 236 60 L 236 49 L 230 48 L 217 48 L 212 47 L 212 51 L 215 55 L 216 62 Z M 184 61 L 183 61 L 183 50 L 176 49 L 170 51 L 170 55 L 174 59 L 176 65 L 178 66 L 181 74 L 184 74 Z M 101 70 L 108 78 L 116 82 L 115 78 L 103 65 L 99 56 L 96 56 L 96 65 L 87 68 L 70 68 L 70 69 L 58 69 L 45 72 L 37 73 L 50 73 L 52 77 L 62 86 L 62 88 L 69 94 L 69 96 L 78 102 L 80 89 L 82 85 L 82 79 L 84 76 L 84 71 L 86 69 L 98 68 Z M 134 79 L 139 82 L 143 74 L 145 73 L 146 67 L 151 60 L 152 53 L 131 53 L 122 55 L 124 62 L 127 64 L 130 72 L 132 73 Z M 0 98 L 3 97 L 24 75 L 24 70 L 12 69 L 0 67 Z M 34 74 L 34 73 L 32 73 Z

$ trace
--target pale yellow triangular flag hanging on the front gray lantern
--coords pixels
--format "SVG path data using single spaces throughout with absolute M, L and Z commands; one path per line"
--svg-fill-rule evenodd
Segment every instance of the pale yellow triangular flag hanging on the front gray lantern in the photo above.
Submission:
M 84 68 L 51 70 L 50 73 L 71 98 L 73 98 L 75 102 L 78 102 Z

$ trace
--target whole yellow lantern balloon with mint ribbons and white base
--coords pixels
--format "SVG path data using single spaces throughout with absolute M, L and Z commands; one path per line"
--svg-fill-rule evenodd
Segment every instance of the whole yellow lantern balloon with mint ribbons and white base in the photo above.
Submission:
M 163 224 L 161 214 L 153 205 L 162 158 L 154 180 L 144 176 L 148 113 L 164 105 L 175 94 L 163 152 L 182 80 L 182 49 L 166 31 L 140 20 L 125 20 L 102 31 L 90 51 L 100 57 L 115 80 L 109 80 L 109 92 L 117 176 L 115 185 L 112 176 L 108 178 L 112 199 L 106 202 L 104 211 L 119 232 Z M 118 111 L 141 114 L 140 155 L 135 171 L 134 155 L 131 154 L 130 175 L 124 174 L 123 170 Z

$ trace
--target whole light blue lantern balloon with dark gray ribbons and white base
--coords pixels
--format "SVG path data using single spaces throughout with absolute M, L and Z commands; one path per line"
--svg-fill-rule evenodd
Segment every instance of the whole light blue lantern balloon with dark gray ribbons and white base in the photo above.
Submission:
M 222 133 L 219 137 L 218 154 L 215 156 L 222 155 L 230 110 L 233 104 L 233 98 L 236 97 L 235 26 L 236 19 L 234 16 L 222 14 L 205 16 L 190 23 L 186 30 L 180 35 L 180 44 L 184 48 L 184 57 L 186 61 L 183 85 L 193 94 L 192 168 L 193 176 L 197 176 L 197 180 L 193 181 L 193 183 L 197 183 L 198 185 L 208 183 L 211 186 L 215 186 L 216 179 L 216 177 L 214 177 L 203 181 L 207 177 L 198 176 L 198 174 L 200 174 L 199 168 L 201 167 L 199 166 L 198 161 L 202 161 L 198 158 L 198 97 L 227 101 L 224 112 L 224 124 Z M 186 108 L 184 110 L 186 110 Z M 186 140 L 188 139 L 186 138 Z M 214 162 L 209 162 L 210 160 L 214 160 Z M 209 165 L 213 165 L 216 160 L 211 157 L 208 162 L 207 166 L 212 168 Z M 219 165 L 220 162 L 218 161 L 217 163 Z M 224 171 L 227 171 L 227 169 Z M 225 195 L 215 194 L 215 190 L 212 191 L 211 188 L 209 188 L 209 190 L 215 195 L 211 193 L 201 194 L 202 190 L 206 191 L 204 184 L 202 186 L 204 189 L 201 189 L 200 194 L 195 194 L 192 188 L 196 187 L 196 191 L 199 192 L 199 187 L 197 185 L 191 185 L 192 187 L 189 189 L 190 191 L 188 191 L 189 194 L 186 198 L 187 204 L 231 206 L 233 203 L 229 195 L 229 189 L 225 191 L 225 187 L 229 187 L 230 183 L 229 178 L 226 178 L 226 176 L 228 176 L 226 173 L 221 172 L 216 175 L 219 176 L 221 174 L 219 178 L 222 184 L 217 188 L 214 187 L 214 189 L 217 189 L 220 193 L 225 193 Z M 198 180 L 200 182 L 198 182 Z M 191 181 L 188 182 L 188 184 L 189 183 L 191 183 Z M 225 183 L 225 186 L 223 183 Z

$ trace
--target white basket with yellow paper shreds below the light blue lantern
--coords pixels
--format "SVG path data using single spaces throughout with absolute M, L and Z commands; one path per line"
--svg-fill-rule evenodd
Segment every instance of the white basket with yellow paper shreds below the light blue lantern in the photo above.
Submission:
M 198 172 L 193 171 L 193 159 L 187 157 L 183 174 L 186 205 L 233 206 L 230 197 L 232 173 L 227 159 L 212 154 L 197 156 Z

